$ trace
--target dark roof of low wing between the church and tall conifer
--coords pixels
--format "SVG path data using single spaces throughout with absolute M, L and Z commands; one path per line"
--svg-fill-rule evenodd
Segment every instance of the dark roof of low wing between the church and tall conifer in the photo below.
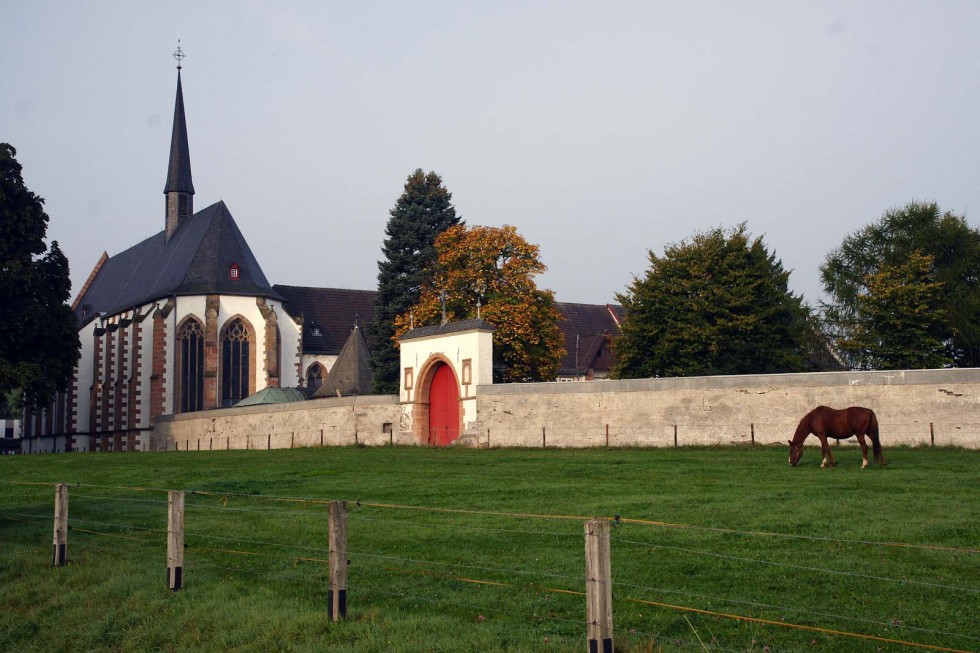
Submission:
M 339 354 L 354 325 L 364 327 L 374 318 L 377 293 L 373 290 L 281 285 L 273 288 L 285 298 L 286 312 L 303 318 L 306 354 Z M 368 346 L 371 344 L 368 339 Z

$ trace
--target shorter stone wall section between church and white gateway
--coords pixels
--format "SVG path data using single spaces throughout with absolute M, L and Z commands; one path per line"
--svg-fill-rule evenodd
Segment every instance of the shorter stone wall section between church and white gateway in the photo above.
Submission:
M 154 425 L 151 449 L 207 451 L 414 444 L 410 432 L 399 431 L 400 417 L 401 406 L 394 395 L 334 397 L 163 415 Z

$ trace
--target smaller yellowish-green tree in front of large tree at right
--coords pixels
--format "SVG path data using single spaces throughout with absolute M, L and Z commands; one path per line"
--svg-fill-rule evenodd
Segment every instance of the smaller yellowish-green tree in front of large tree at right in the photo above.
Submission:
M 933 280 L 932 257 L 919 251 L 882 265 L 858 295 L 858 319 L 841 349 L 863 369 L 899 370 L 953 364 L 943 284 Z

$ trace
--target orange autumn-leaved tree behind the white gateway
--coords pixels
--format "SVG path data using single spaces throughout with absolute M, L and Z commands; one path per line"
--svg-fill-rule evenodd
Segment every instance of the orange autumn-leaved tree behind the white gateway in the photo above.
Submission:
M 534 276 L 547 268 L 537 245 L 515 227 L 450 227 L 436 239 L 438 258 L 419 302 L 395 320 L 396 336 L 414 326 L 438 324 L 445 292 L 446 317 L 479 316 L 494 328 L 497 381 L 550 381 L 565 355 L 554 293 Z

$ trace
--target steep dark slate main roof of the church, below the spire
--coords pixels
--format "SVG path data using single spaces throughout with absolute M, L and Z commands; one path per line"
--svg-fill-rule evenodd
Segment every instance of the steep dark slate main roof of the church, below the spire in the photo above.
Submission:
M 229 274 L 239 268 L 237 280 Z M 170 295 L 245 295 L 281 300 L 269 285 L 224 202 L 187 218 L 167 240 L 164 231 L 102 262 L 75 301 L 85 324 Z

